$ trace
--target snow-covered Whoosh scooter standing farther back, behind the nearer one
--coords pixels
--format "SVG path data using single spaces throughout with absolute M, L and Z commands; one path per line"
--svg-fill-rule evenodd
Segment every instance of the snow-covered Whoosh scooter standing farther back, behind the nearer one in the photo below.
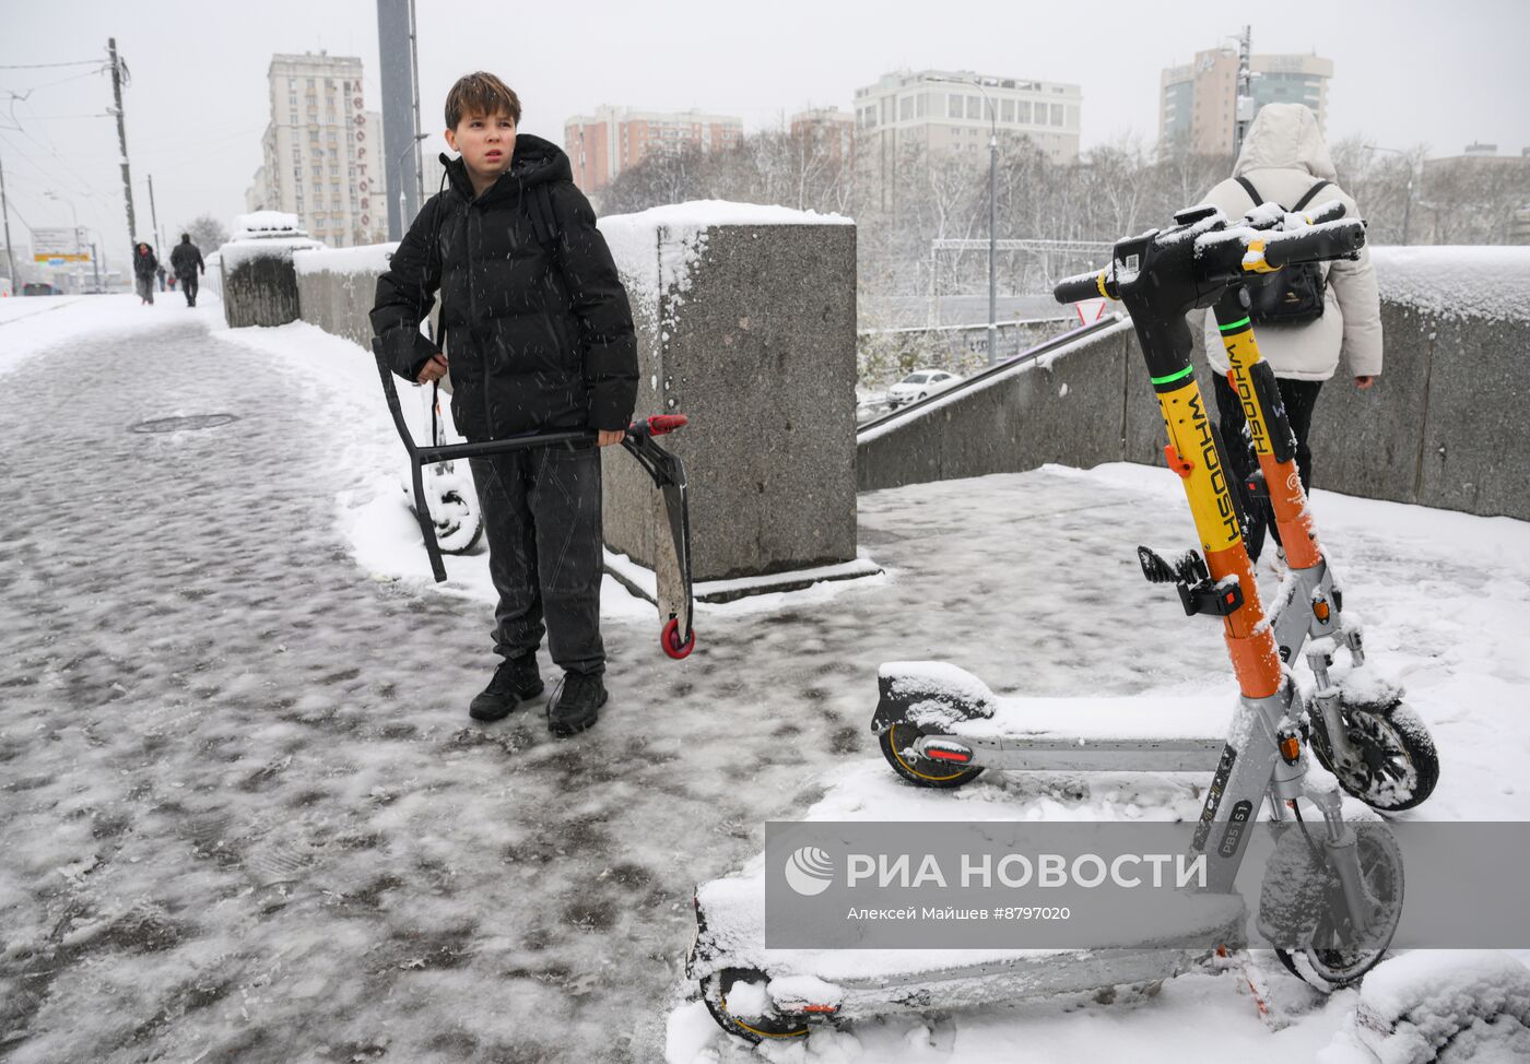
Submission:
M 1308 216 L 1290 216 L 1293 225 L 1314 225 L 1311 232 L 1340 217 L 1342 203 L 1330 203 Z M 1204 225 L 1204 220 L 1203 220 Z M 1250 246 L 1290 243 L 1287 216 L 1274 206 L 1259 206 L 1239 220 L 1238 231 L 1255 234 Z M 1282 243 L 1284 242 L 1284 243 Z M 1248 269 L 1253 275 L 1274 269 L 1258 252 Z M 1120 280 L 1125 266 L 1099 275 L 1065 281 L 1057 298 L 1121 298 Z M 1245 275 L 1247 277 L 1247 275 Z M 1227 480 L 1227 466 L 1213 451 L 1218 439 L 1215 420 L 1190 420 L 1184 411 L 1164 405 L 1164 417 L 1175 413 L 1164 448 L 1169 468 L 1186 477 L 1190 489 L 1196 468 L 1210 475 L 1219 494 L 1192 492 L 1190 506 L 1196 521 L 1213 527 L 1203 532 L 1203 549 L 1226 552 L 1236 535 L 1236 512 L 1250 503 L 1273 508 L 1290 570 L 1281 582 L 1273 608 L 1268 611 L 1281 662 L 1293 662 L 1307 647 L 1316 686 L 1308 703 L 1317 708 L 1311 717 L 1313 752 L 1339 784 L 1372 809 L 1397 812 L 1412 809 L 1434 790 L 1440 764 L 1434 743 L 1423 722 L 1403 705 L 1401 688 L 1365 667 L 1362 630 L 1343 611 L 1339 589 L 1322 546 L 1316 523 L 1307 506 L 1296 471 L 1296 440 L 1281 404 L 1281 393 L 1270 364 L 1261 361 L 1247 310 L 1247 294 L 1241 278 L 1221 287 L 1213 307 L 1227 359 L 1229 381 L 1242 399 L 1252 446 L 1259 469 L 1247 485 Z M 1164 345 L 1170 336 L 1161 326 L 1144 332 L 1149 342 Z M 1183 336 L 1178 339 L 1183 341 Z M 1149 352 L 1152 364 L 1158 358 Z M 1175 368 L 1181 376 L 1154 376 L 1160 402 L 1174 387 L 1186 387 L 1190 370 Z M 1166 391 L 1167 390 L 1167 391 Z M 1189 401 L 1186 401 L 1189 402 Z M 1195 414 L 1203 413 L 1200 393 Z M 1189 436 L 1193 430 L 1195 436 Z M 1233 443 L 1236 445 L 1236 442 Z M 1218 443 L 1219 446 L 1219 443 Z M 1198 454 L 1204 457 L 1196 459 Z M 1226 451 L 1222 451 L 1226 454 Z M 1206 466 L 1210 465 L 1207 474 Z M 1233 503 L 1238 503 L 1233 508 Z M 1149 550 L 1137 549 L 1143 575 L 1152 582 L 1174 584 L 1186 615 L 1203 613 L 1226 618 L 1229 633 L 1248 622 L 1233 619 L 1253 616 L 1242 599 L 1253 590 L 1253 581 L 1229 582 L 1232 570 L 1207 567 L 1209 558 L 1190 550 L 1167 561 Z M 1241 575 L 1241 573 L 1238 573 Z M 1235 593 L 1235 598 L 1227 598 Z M 1311 641 L 1308 644 L 1308 641 Z M 1334 650 L 1343 644 L 1349 651 L 1346 665 L 1334 667 Z M 1247 670 L 1239 659 L 1245 644 L 1229 634 L 1235 665 Z M 952 665 L 927 662 L 890 662 L 880 670 L 881 697 L 872 720 L 881 752 L 894 770 L 909 783 L 924 787 L 959 787 L 984 769 L 1004 770 L 1129 770 L 1129 772 L 1212 772 L 1221 755 L 1222 740 L 1210 738 L 1222 731 L 1227 708 L 1221 699 L 1177 699 L 1164 705 L 1146 705 L 1143 699 L 1105 699 L 1088 705 L 1077 699 L 994 699 L 961 697 L 941 691 L 964 689 L 987 693 L 987 688 Z M 1146 728 L 1144 728 L 1146 726 Z M 1146 732 L 1146 734 L 1144 734 Z

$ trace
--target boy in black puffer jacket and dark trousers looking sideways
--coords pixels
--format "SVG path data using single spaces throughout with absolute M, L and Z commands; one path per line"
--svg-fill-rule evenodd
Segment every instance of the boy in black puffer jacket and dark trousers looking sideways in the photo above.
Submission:
M 372 330 L 393 371 L 453 381 L 468 440 L 591 428 L 620 443 L 632 419 L 638 353 L 627 294 L 595 212 L 555 145 L 516 135 L 520 99 L 470 73 L 447 93 L 448 187 L 378 278 Z M 419 332 L 441 289 L 438 350 Z M 601 511 L 597 446 L 539 446 L 473 459 L 499 592 L 494 650 L 505 659 L 473 699 L 500 720 L 542 693 L 537 647 L 565 670 L 548 728 L 571 735 L 606 702 L 600 639 Z

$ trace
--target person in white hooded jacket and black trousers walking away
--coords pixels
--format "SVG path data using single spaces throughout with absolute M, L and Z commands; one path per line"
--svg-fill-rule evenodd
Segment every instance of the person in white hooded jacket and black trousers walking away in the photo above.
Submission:
M 1255 208 L 1253 197 L 1238 177 L 1250 182 L 1265 203 L 1281 203 L 1287 209 L 1319 182 L 1330 182 L 1313 194 L 1302 208 L 1304 212 L 1340 200 L 1345 217 L 1365 217 L 1356 202 L 1334 183 L 1337 174 L 1317 119 L 1300 104 L 1265 104 L 1248 127 L 1233 176 L 1206 194 L 1203 202 L 1219 208 L 1230 222 Z M 1320 318 L 1300 324 L 1255 321 L 1259 352 L 1274 370 L 1287 419 L 1296 433 L 1296 468 L 1307 491 L 1313 486 L 1313 453 L 1307 437 L 1323 381 L 1339 370 L 1340 356 L 1359 388 L 1369 388 L 1382 375 L 1382 301 L 1369 251 L 1362 249 L 1357 260 L 1323 263 L 1323 275 L 1327 290 Z M 1204 330 L 1206 358 L 1215 370 L 1212 379 L 1222 439 L 1232 451 L 1229 459 L 1233 471 L 1247 477 L 1253 471 L 1253 460 L 1239 443 L 1245 430 L 1242 407 L 1227 384 L 1227 352 L 1216 330 L 1216 318 L 1210 313 L 1206 315 Z M 1250 527 L 1244 529 L 1244 538 L 1248 555 L 1258 558 L 1265 527 L 1274 532 L 1274 526 L 1262 508 L 1255 508 L 1247 517 L 1245 524 Z

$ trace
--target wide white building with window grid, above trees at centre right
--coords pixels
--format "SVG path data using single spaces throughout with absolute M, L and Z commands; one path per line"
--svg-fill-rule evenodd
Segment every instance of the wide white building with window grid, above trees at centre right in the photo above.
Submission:
M 1083 93 L 1054 81 L 972 70 L 898 70 L 855 90 L 857 167 L 884 208 L 909 148 L 926 159 L 988 150 L 990 130 L 1030 139 L 1053 162 L 1079 157 Z

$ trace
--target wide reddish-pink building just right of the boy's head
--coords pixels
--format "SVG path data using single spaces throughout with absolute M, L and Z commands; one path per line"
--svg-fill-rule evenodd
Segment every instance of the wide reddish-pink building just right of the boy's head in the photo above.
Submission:
M 650 153 L 679 151 L 687 145 L 721 151 L 742 139 L 742 118 L 696 110 L 646 112 L 604 105 L 592 115 L 575 115 L 563 122 L 563 150 L 574 164 L 574 183 L 586 193 L 604 188 Z

